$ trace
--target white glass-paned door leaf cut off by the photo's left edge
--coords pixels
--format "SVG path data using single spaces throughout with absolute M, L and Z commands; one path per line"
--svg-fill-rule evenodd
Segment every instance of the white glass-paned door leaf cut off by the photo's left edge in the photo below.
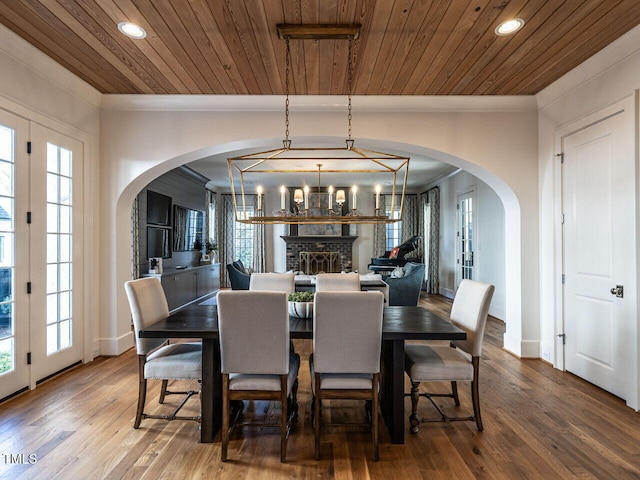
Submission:
M 0 111 L 0 399 L 29 386 L 28 131 L 26 120 Z

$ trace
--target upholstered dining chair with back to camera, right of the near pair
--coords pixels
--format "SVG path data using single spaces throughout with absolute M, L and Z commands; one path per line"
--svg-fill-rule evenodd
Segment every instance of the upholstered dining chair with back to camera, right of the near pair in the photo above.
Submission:
M 317 292 L 313 354 L 309 358 L 315 457 L 320 459 L 321 407 L 325 399 L 371 403 L 373 458 L 379 458 L 378 390 L 382 347 L 382 292 Z

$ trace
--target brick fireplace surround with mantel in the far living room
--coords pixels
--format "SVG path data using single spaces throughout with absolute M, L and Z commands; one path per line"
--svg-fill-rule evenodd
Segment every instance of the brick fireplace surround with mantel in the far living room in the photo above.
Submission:
M 301 271 L 300 252 L 336 252 L 340 254 L 339 271 L 353 270 L 353 242 L 357 236 L 294 236 L 283 235 L 287 244 L 287 271 Z

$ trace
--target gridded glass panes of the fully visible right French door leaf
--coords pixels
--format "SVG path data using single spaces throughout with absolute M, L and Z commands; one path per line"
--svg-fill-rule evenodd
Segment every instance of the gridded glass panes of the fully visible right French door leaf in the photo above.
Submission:
M 47 144 L 47 353 L 71 346 L 72 158 Z

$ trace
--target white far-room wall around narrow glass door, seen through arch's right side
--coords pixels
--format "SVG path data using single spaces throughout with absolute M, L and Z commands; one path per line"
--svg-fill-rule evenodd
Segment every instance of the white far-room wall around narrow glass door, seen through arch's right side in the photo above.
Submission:
M 482 180 L 459 171 L 441 182 L 440 187 L 440 293 L 453 298 L 456 280 L 456 231 L 458 194 L 475 190 L 474 244 L 476 280 L 495 285 L 489 314 L 506 318 L 504 208 L 500 198 Z

